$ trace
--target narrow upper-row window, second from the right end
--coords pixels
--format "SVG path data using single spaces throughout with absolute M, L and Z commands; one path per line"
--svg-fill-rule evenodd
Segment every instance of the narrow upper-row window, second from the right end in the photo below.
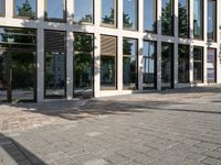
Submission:
M 193 36 L 203 40 L 203 1 L 193 1 Z

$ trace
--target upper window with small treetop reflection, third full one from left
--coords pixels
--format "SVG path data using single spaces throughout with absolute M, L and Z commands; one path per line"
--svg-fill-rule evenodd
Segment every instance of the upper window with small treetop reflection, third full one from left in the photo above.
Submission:
M 74 0 L 74 22 L 93 23 L 94 0 Z

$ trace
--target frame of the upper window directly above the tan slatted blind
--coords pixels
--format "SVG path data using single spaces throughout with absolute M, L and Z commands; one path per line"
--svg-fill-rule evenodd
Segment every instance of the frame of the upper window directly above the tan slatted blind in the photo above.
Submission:
M 103 23 L 103 16 L 102 16 L 102 10 L 103 10 L 103 8 L 102 8 L 102 6 L 103 6 L 103 1 L 104 0 L 101 0 L 101 18 L 99 18 L 99 20 L 101 20 L 101 26 L 104 26 L 104 28 L 112 28 L 112 29 L 117 29 L 117 20 L 118 20 L 118 18 L 117 18 L 117 15 L 118 15 L 118 6 L 117 6 L 117 0 L 113 0 L 113 2 L 114 2 L 114 24 L 108 24 L 108 23 Z

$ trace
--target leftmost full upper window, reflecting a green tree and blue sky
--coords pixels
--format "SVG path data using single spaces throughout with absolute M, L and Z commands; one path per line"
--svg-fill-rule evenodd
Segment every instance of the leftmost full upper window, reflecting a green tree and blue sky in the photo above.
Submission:
M 35 0 L 14 0 L 14 16 L 17 18 L 36 18 Z

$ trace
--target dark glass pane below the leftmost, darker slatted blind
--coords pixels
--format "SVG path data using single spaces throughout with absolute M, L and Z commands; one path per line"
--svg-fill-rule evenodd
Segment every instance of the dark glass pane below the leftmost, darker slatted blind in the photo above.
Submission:
M 44 58 L 45 96 L 65 96 L 66 55 L 61 52 L 46 52 Z

